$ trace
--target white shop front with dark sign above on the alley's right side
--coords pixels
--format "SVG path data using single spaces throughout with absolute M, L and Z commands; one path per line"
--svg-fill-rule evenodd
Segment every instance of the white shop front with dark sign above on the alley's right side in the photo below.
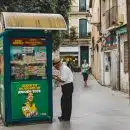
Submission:
M 101 79 L 102 84 L 106 86 L 115 86 L 117 77 L 117 38 L 115 30 L 109 32 L 107 37 L 104 37 L 104 44 L 101 48 Z

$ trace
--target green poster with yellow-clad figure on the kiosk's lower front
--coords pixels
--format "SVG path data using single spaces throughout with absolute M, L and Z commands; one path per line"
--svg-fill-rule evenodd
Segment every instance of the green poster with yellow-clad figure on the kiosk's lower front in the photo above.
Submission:
M 47 80 L 12 82 L 12 118 L 48 116 Z

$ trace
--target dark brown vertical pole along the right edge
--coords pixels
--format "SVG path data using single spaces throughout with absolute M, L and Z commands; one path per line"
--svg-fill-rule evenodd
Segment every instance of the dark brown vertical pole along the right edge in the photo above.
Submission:
M 128 74 L 129 74 L 129 99 L 130 99 L 130 0 L 126 0 L 127 5 L 127 30 L 128 30 Z M 130 103 L 130 100 L 129 100 Z

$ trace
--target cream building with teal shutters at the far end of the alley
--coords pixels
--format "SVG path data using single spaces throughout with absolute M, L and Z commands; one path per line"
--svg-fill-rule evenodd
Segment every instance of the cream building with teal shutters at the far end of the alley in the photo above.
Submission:
M 69 33 L 72 27 L 75 28 L 76 40 L 70 42 L 65 39 L 60 47 L 60 56 L 72 57 L 77 60 L 78 66 L 84 59 L 91 63 L 90 60 L 90 35 L 91 25 L 88 23 L 89 8 L 87 0 L 74 0 L 72 2 L 70 17 L 69 17 Z

